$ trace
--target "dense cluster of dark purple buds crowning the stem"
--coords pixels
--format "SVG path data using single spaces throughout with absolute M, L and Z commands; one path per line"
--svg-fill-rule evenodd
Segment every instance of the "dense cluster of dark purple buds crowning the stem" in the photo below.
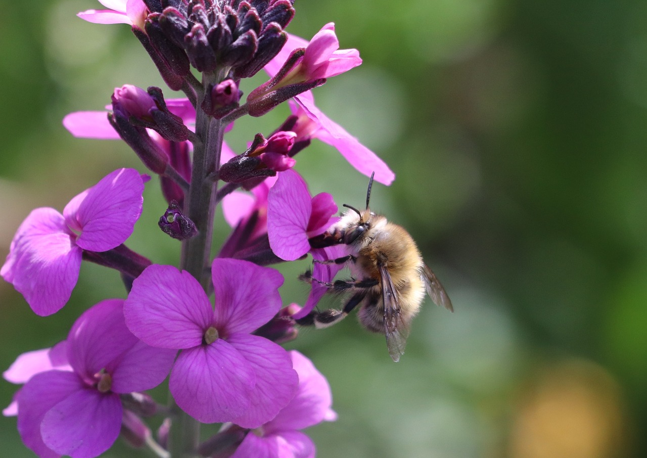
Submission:
M 149 3 L 151 13 L 145 30 L 150 43 L 163 56 L 166 66 L 180 76 L 186 76 L 185 67 L 177 65 L 185 61 L 199 71 L 232 67 L 238 77 L 252 76 L 283 47 L 287 40 L 283 28 L 294 16 L 291 0 L 148 0 Z M 178 49 L 182 50 L 181 56 L 173 57 Z

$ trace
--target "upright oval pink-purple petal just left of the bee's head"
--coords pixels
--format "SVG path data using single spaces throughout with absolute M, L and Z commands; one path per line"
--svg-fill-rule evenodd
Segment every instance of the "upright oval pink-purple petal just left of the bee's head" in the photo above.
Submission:
M 303 179 L 293 170 L 280 173 L 267 203 L 267 235 L 276 256 L 294 261 L 309 252 L 306 235 L 312 203 Z

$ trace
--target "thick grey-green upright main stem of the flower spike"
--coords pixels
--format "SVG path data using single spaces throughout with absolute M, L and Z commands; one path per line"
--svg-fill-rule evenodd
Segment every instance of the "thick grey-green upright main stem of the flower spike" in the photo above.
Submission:
M 226 72 L 204 74 L 203 87 L 212 82 L 220 82 Z M 210 94 L 203 91 L 202 97 Z M 214 232 L 215 195 L 217 180 L 210 178 L 217 172 L 220 164 L 220 153 L 223 146 L 225 126 L 221 120 L 214 119 L 199 109 L 202 102 L 197 100 L 195 135 L 199 139 L 193 144 L 193 170 L 185 200 L 184 212 L 197 227 L 195 237 L 182 243 L 180 268 L 195 277 L 204 290 L 211 283 L 209 261 L 211 242 Z M 169 408 L 175 415 L 171 424 L 169 452 L 171 458 L 197 458 L 197 446 L 200 440 L 200 422 L 184 413 L 170 397 Z

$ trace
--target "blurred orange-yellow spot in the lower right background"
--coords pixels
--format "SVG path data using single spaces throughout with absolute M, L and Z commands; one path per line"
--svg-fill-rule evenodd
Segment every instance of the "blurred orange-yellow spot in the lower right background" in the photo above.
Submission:
M 521 393 L 510 431 L 512 458 L 621 456 L 627 441 L 617 382 L 581 360 L 543 369 Z

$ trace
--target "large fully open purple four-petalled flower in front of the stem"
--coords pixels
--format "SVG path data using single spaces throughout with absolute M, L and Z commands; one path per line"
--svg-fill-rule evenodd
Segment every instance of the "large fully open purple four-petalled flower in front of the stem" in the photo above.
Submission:
M 151 265 L 133 282 L 124 308 L 129 329 L 149 345 L 182 349 L 169 389 L 203 423 L 256 428 L 294 396 L 298 377 L 287 352 L 250 335 L 281 308 L 283 276 L 238 259 L 214 259 L 215 309 L 198 281 Z

